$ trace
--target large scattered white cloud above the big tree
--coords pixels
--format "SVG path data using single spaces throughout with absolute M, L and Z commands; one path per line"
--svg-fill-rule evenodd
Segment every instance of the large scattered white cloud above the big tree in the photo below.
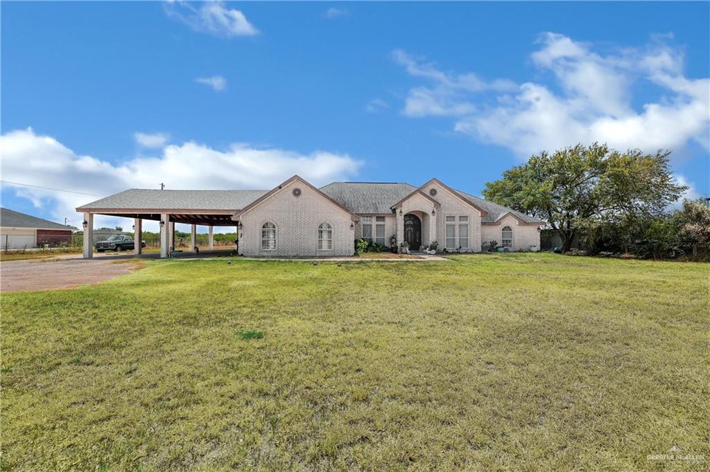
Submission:
M 551 73 L 560 91 L 527 82 L 513 94 L 492 93 L 502 90 L 495 87 L 481 94 L 486 82 L 478 77 L 447 74 L 395 51 L 395 60 L 411 76 L 437 84 L 413 86 L 404 114 L 453 116 L 455 130 L 520 157 L 594 141 L 649 152 L 676 151 L 690 141 L 708 148 L 710 80 L 684 77 L 682 51 L 668 40 L 655 37 L 643 48 L 602 55 L 593 45 L 545 33 L 531 62 L 543 74 Z M 635 109 L 632 89 L 642 81 L 652 84 L 660 98 Z

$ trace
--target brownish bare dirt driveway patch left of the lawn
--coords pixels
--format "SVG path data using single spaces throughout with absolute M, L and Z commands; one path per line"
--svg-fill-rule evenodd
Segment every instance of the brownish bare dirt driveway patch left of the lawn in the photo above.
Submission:
M 118 263 L 118 264 L 117 264 Z M 140 260 L 30 259 L 0 264 L 0 291 L 52 290 L 99 283 L 141 269 Z

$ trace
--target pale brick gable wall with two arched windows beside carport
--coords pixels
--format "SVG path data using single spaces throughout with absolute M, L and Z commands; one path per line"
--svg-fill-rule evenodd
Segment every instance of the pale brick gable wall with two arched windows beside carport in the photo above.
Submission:
M 293 189 L 301 190 L 294 196 Z M 355 232 L 350 213 L 302 181 L 291 181 L 240 216 L 239 253 L 251 257 L 351 256 Z M 261 227 L 276 226 L 276 249 L 261 249 Z M 318 249 L 318 226 L 329 223 L 333 249 Z

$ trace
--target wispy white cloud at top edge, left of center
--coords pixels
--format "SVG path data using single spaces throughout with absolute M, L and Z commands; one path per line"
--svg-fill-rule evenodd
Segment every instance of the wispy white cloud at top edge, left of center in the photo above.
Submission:
M 224 1 L 202 1 L 199 4 L 188 1 L 168 1 L 165 3 L 165 12 L 168 16 L 186 23 L 195 31 L 221 38 L 253 36 L 259 33 L 249 23 L 244 13 L 227 8 Z

